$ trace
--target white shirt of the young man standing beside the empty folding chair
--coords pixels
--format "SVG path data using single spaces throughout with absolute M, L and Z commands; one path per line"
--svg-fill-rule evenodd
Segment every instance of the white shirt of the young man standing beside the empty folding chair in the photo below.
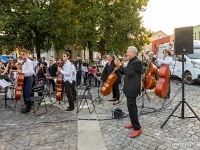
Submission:
M 72 65 L 70 61 L 66 61 L 63 66 L 63 70 L 60 70 L 60 73 L 63 74 L 63 81 L 69 81 L 72 83 Z

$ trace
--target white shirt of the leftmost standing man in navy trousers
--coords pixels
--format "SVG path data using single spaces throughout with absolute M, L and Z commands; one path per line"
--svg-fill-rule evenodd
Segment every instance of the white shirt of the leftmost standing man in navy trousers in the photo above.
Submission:
M 22 73 L 24 73 L 24 77 L 34 74 L 33 62 L 28 58 L 26 59 L 26 62 L 22 65 Z

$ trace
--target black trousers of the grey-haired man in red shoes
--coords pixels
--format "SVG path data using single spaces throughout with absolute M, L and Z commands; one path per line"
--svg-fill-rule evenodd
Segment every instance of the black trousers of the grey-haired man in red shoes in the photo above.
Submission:
M 141 126 L 138 120 L 136 97 L 127 97 L 127 107 L 128 107 L 131 124 L 133 125 L 134 130 L 139 130 Z

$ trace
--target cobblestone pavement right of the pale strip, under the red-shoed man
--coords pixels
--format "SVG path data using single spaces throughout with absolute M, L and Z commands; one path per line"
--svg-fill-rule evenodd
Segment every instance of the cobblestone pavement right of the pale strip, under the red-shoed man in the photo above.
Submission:
M 171 117 L 166 125 L 161 129 L 161 125 L 172 112 L 174 107 L 182 100 L 182 84 L 175 80 L 171 83 L 171 98 L 164 100 L 155 96 L 154 91 L 147 90 L 150 102 L 146 95 L 143 99 L 137 100 L 139 107 L 139 121 L 143 132 L 137 138 L 129 138 L 132 129 L 125 129 L 124 125 L 130 123 L 129 118 L 103 120 L 99 121 L 103 136 L 105 138 L 108 150 L 132 150 L 132 149 L 150 149 L 150 150 L 172 150 L 172 149 L 200 149 L 200 122 L 197 118 L 177 118 Z M 200 93 L 199 85 L 185 85 L 185 99 L 192 107 L 194 112 L 200 116 Z M 144 108 L 142 102 L 144 100 Z M 126 100 L 117 106 L 126 114 Z M 152 112 L 155 108 L 156 113 Z M 103 108 L 103 107 L 102 107 Z M 114 107 L 116 108 L 116 107 Z M 114 109 L 111 108 L 111 109 Z M 162 109 L 161 109 L 162 108 Z M 176 116 L 181 116 L 182 105 L 174 113 Z M 109 115 L 110 110 L 101 110 L 101 116 Z M 194 116 L 190 109 L 185 104 L 185 117 Z

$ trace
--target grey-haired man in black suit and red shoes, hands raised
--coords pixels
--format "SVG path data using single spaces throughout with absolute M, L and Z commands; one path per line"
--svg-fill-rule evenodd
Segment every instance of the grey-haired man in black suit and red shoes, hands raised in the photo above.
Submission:
M 136 105 L 136 97 L 140 95 L 141 92 L 142 62 L 137 58 L 137 52 L 136 47 L 128 47 L 126 55 L 129 62 L 126 67 L 123 67 L 119 60 L 115 60 L 115 65 L 119 68 L 119 71 L 125 75 L 123 92 L 127 97 L 127 107 L 131 120 L 131 124 L 125 125 L 125 128 L 134 128 L 134 131 L 130 134 L 131 138 L 142 133 L 142 128 L 138 121 Z

